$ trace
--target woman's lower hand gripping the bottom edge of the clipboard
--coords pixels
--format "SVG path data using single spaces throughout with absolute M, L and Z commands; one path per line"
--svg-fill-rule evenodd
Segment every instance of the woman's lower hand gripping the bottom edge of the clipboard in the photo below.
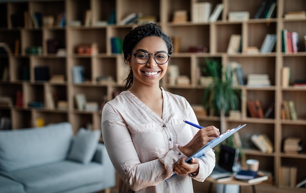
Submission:
M 199 169 L 198 159 L 191 158 L 191 164 L 187 163 L 186 158 L 179 159 L 174 166 L 173 171 L 178 175 L 186 175 L 189 173 L 195 173 Z

